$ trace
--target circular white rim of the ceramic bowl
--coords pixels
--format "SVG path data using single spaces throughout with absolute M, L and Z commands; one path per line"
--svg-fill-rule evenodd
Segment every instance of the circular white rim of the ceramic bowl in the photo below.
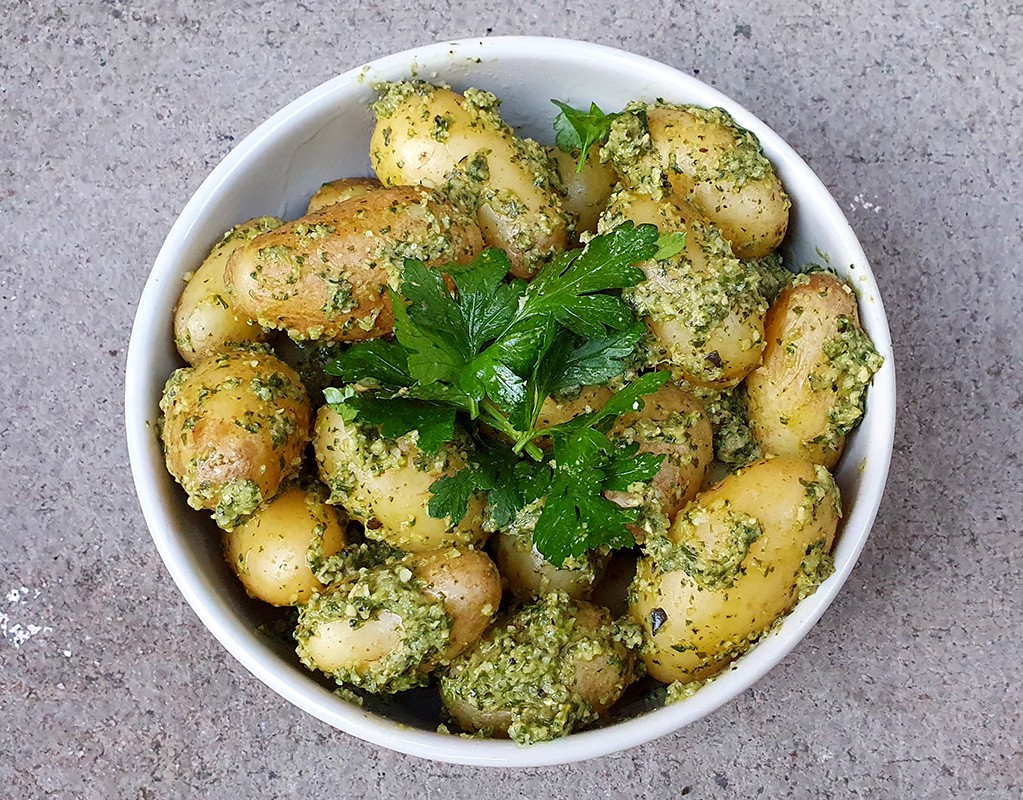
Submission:
M 875 375 L 870 402 L 875 416 L 871 430 L 871 460 L 862 470 L 858 498 L 854 508 L 856 534 L 852 546 L 846 547 L 841 562 L 836 560 L 835 573 L 796 609 L 769 636 L 733 662 L 715 680 L 691 698 L 637 717 L 617 721 L 609 726 L 573 734 L 553 742 L 522 747 L 507 741 L 470 740 L 409 727 L 377 716 L 337 698 L 328 690 L 310 679 L 292 680 L 275 665 L 278 658 L 255 638 L 253 631 L 231 625 L 216 613 L 216 586 L 192 574 L 175 544 L 173 522 L 157 487 L 151 457 L 150 428 L 152 401 L 146 396 L 143 366 L 146 355 L 166 335 L 166 330 L 150 321 L 153 315 L 165 313 L 158 285 L 163 276 L 180 275 L 176 268 L 177 254 L 202 218 L 211 198 L 241 169 L 255 150 L 280 134 L 285 124 L 314 114 L 344 93 L 353 82 L 361 81 L 370 69 L 383 74 L 408 74 L 410 64 L 442 64 L 453 58 L 500 58 L 527 52 L 549 52 L 557 48 L 560 59 L 592 59 L 621 63 L 631 72 L 640 72 L 656 80 L 670 83 L 673 89 L 690 91 L 707 97 L 713 104 L 726 108 L 736 121 L 753 131 L 775 165 L 784 162 L 785 170 L 795 174 L 803 191 L 815 195 L 815 215 L 824 215 L 835 230 L 844 251 L 851 253 L 857 267 L 862 267 L 859 293 L 870 292 L 874 302 L 862 309 L 864 326 L 870 330 L 878 351 L 885 355 L 885 364 Z M 866 319 L 865 317 L 870 317 Z M 875 282 L 874 274 L 848 221 L 824 183 L 776 133 L 742 105 L 700 80 L 672 66 L 606 45 L 589 42 L 532 36 L 466 38 L 409 48 L 374 59 L 349 70 L 301 95 L 272 115 L 246 136 L 210 173 L 191 195 L 175 220 L 153 263 L 146 280 L 132 327 L 125 374 L 125 428 L 129 460 L 139 503 L 147 527 L 168 572 L 185 601 L 203 624 L 223 647 L 262 682 L 304 711 L 327 724 L 372 744 L 401 753 L 437 761 L 480 766 L 547 766 L 586 760 L 622 751 L 651 742 L 700 719 L 745 692 L 768 670 L 781 662 L 806 635 L 821 617 L 842 584 L 852 571 L 876 518 L 891 461 L 895 419 L 895 371 L 891 353 L 891 336 L 887 318 Z M 163 469 L 163 463 L 157 469 Z M 850 520 L 843 525 L 843 541 Z

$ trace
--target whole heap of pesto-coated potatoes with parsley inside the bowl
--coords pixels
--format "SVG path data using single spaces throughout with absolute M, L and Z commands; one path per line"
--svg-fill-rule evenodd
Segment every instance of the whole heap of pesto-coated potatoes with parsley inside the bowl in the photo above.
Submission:
M 833 570 L 855 294 L 783 262 L 721 108 L 554 101 L 545 144 L 484 89 L 374 89 L 374 174 L 187 276 L 168 471 L 351 702 L 530 745 L 691 695 Z

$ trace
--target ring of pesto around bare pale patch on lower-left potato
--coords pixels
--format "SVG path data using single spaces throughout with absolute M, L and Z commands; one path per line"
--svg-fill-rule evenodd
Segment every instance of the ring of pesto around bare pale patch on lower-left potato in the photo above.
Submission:
M 363 564 L 354 574 L 331 583 L 300 608 L 295 638 L 302 663 L 318 669 L 306 646 L 320 625 L 341 621 L 357 629 L 369 620 L 379 619 L 384 612 L 397 615 L 402 621 L 398 647 L 375 661 L 328 673 L 340 683 L 391 694 L 428 681 L 430 669 L 450 641 L 451 619 L 443 602 L 425 590 L 407 557 L 385 558 L 372 564 L 380 552 L 363 550 L 354 558 L 343 557 L 340 569 L 331 564 L 319 571 L 327 577 L 331 570 L 337 574 L 345 566 Z

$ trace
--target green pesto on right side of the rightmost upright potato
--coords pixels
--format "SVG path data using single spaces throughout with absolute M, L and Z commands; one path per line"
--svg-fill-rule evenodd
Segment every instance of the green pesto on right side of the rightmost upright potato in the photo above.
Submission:
M 822 346 L 825 368 L 810 375 L 814 391 L 836 393 L 836 402 L 828 412 L 828 427 L 813 440 L 814 444 L 834 445 L 848 434 L 863 416 L 866 389 L 884 358 L 854 319 L 839 317 L 839 334 Z

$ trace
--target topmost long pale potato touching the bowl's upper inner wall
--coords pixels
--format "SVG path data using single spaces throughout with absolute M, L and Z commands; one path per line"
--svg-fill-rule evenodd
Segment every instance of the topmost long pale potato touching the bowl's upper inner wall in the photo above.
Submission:
M 517 137 L 498 105 L 477 89 L 387 84 L 373 103 L 369 159 L 385 186 L 436 188 L 475 215 L 487 245 L 507 253 L 516 276 L 530 277 L 565 249 L 569 217 L 547 152 Z

